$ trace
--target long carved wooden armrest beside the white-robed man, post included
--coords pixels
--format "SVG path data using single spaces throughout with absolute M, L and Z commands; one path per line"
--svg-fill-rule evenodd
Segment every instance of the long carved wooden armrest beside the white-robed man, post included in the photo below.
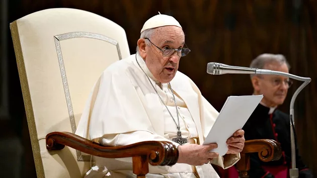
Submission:
M 177 147 L 167 141 L 144 141 L 126 146 L 108 147 L 70 132 L 52 132 L 46 135 L 47 150 L 61 150 L 69 146 L 94 156 L 105 158 L 132 157 L 133 173 L 145 177 L 148 163 L 174 165 L 178 160 Z

